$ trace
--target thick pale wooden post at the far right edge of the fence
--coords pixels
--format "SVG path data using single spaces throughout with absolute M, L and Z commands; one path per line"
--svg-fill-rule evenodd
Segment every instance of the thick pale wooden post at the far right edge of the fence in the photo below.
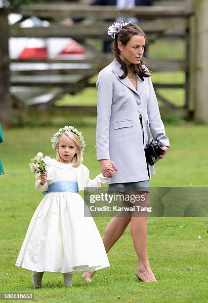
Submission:
M 196 23 L 195 119 L 208 123 L 208 0 L 196 0 Z

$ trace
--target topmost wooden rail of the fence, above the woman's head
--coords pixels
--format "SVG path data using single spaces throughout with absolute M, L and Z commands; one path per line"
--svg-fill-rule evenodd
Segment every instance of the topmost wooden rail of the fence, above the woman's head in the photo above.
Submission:
M 169 17 L 189 17 L 194 13 L 187 6 L 136 6 L 133 8 L 119 9 L 117 6 L 91 6 L 91 5 L 72 5 L 72 4 L 36 4 L 22 6 L 18 11 L 24 17 L 32 15 L 41 18 L 51 18 L 60 20 L 64 17 L 86 18 L 96 17 L 99 19 L 115 19 L 115 17 L 123 16 L 125 18 L 169 18 Z

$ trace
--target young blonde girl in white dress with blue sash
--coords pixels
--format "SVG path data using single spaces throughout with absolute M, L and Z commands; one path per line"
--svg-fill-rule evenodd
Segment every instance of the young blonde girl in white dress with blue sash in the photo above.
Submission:
M 84 187 L 100 188 L 107 178 L 100 174 L 89 179 L 89 170 L 82 164 L 83 136 L 73 126 L 60 128 L 51 142 L 56 159 L 51 159 L 47 174 L 35 184 L 46 195 L 32 217 L 16 261 L 16 266 L 33 271 L 34 288 L 42 286 L 44 271 L 63 273 L 64 285 L 72 286 L 74 271 L 110 266 L 99 231 L 93 218 L 84 216 L 85 202 L 78 194 Z M 91 282 L 85 272 L 83 279 Z

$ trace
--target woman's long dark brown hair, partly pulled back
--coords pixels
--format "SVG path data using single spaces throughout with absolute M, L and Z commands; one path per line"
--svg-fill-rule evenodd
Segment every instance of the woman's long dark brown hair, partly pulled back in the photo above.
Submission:
M 120 50 L 118 47 L 118 42 L 121 42 L 123 45 L 126 45 L 133 35 L 143 36 L 146 41 L 146 35 L 142 31 L 142 29 L 136 24 L 129 23 L 120 30 L 118 35 L 115 36 L 115 39 L 113 40 L 113 43 L 111 45 L 112 52 L 114 53 L 114 55 L 115 55 L 116 59 L 119 61 L 119 63 L 121 63 L 123 70 L 124 70 L 124 74 L 120 77 L 121 79 L 124 79 L 125 77 L 127 77 L 128 70 L 127 70 L 127 66 L 126 66 L 125 62 L 120 57 L 121 53 L 120 53 Z M 146 67 L 142 66 L 142 64 L 143 63 L 142 63 L 142 59 L 141 59 L 139 64 L 134 64 L 134 69 L 135 69 L 136 74 L 139 76 L 139 78 L 142 81 L 144 81 L 144 78 L 150 77 L 150 73 L 146 69 Z

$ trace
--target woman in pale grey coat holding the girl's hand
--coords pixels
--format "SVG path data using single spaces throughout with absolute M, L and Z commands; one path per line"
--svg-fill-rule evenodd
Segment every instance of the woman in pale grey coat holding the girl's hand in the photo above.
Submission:
M 132 195 L 146 192 L 149 204 L 149 179 L 154 166 L 146 162 L 144 146 L 150 138 L 160 139 L 162 159 L 169 141 L 161 120 L 150 73 L 142 64 L 146 36 L 135 24 L 114 23 L 109 27 L 114 61 L 100 71 L 97 80 L 97 159 L 109 179 L 109 191 Z M 113 164 L 115 174 L 108 171 Z M 136 276 L 144 282 L 157 282 L 149 265 L 146 240 L 147 216 L 115 216 L 107 225 L 103 243 L 108 252 L 124 233 L 128 223 L 138 256 Z M 93 272 L 84 277 L 91 282 Z

